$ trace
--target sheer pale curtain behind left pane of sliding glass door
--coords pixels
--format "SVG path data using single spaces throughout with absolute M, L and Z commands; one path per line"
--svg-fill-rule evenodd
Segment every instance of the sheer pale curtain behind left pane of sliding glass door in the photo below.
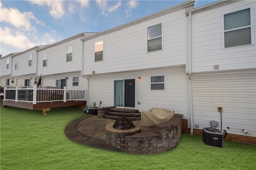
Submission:
M 114 106 L 124 106 L 124 80 L 115 80 Z

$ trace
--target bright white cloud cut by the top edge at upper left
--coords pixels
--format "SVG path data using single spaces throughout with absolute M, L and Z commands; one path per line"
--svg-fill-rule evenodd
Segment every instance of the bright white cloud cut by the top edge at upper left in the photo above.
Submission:
M 47 1 L 37 1 L 37 0 L 31 0 L 30 1 L 32 4 L 37 4 L 39 6 L 48 6 L 50 9 L 50 15 L 55 18 L 59 19 L 62 18 L 64 15 L 64 10 L 63 10 L 63 2 L 60 0 L 47 0 Z

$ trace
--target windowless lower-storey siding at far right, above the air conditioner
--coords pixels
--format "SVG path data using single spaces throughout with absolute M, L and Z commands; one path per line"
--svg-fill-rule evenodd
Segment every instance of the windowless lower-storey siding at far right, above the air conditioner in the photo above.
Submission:
M 256 137 L 256 71 L 195 74 L 193 76 L 194 123 L 210 127 L 219 122 L 222 107 L 222 130 Z M 230 129 L 227 129 L 230 127 Z

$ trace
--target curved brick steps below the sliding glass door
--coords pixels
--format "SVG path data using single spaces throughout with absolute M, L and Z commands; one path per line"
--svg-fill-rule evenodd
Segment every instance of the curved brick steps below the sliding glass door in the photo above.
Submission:
M 118 119 L 122 116 L 128 117 L 130 120 L 141 120 L 140 113 L 137 109 L 112 108 L 107 111 L 103 117 L 108 119 Z

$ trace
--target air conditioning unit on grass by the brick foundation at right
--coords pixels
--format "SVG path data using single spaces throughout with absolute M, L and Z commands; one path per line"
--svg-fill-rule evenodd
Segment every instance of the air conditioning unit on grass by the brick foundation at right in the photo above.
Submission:
M 202 141 L 206 145 L 223 147 L 223 133 L 221 131 L 212 127 L 204 127 L 202 133 Z

